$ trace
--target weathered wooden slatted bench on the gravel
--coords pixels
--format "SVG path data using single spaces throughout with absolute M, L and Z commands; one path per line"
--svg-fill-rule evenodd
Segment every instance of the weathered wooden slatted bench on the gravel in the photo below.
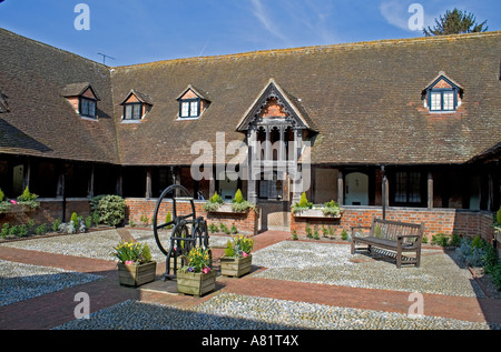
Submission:
M 369 235 L 355 233 L 356 229 L 369 229 Z M 352 254 L 355 253 L 356 243 L 382 248 L 396 252 L 396 268 L 401 268 L 402 259 L 405 264 L 420 266 L 421 242 L 423 240 L 424 223 L 414 224 L 400 221 L 373 219 L 371 227 L 352 227 Z M 403 257 L 402 253 L 414 252 L 415 258 Z

